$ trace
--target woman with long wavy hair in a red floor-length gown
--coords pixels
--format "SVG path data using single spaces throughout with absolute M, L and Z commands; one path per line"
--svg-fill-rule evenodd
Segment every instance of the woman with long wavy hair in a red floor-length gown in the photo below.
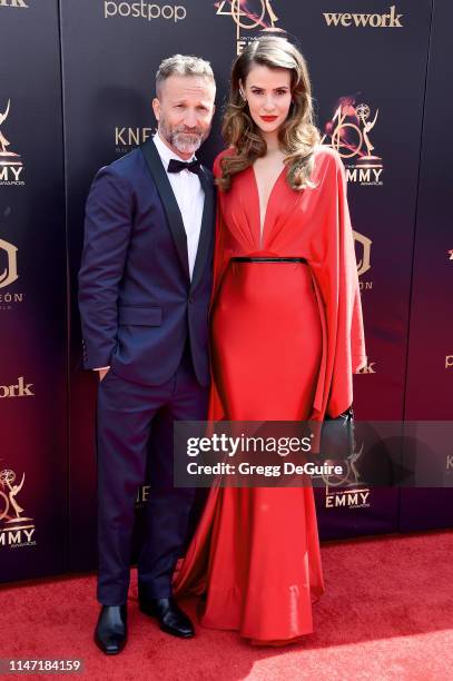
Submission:
M 305 61 L 283 38 L 236 60 L 224 120 L 209 420 L 321 422 L 365 363 L 345 172 L 318 144 Z M 283 644 L 313 631 L 324 591 L 313 490 L 210 491 L 175 580 L 201 623 Z

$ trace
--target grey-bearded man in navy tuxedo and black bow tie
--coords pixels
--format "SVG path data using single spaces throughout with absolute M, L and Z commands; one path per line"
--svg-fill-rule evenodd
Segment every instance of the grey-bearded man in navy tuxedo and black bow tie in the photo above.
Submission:
M 164 60 L 152 101 L 156 136 L 101 168 L 87 201 L 79 306 L 85 367 L 100 382 L 95 640 L 108 654 L 127 639 L 135 499 L 156 418 L 139 606 L 164 631 L 194 635 L 171 596 L 195 495 L 173 485 L 173 422 L 207 413 L 215 196 L 211 174 L 194 155 L 209 135 L 215 91 L 208 62 Z

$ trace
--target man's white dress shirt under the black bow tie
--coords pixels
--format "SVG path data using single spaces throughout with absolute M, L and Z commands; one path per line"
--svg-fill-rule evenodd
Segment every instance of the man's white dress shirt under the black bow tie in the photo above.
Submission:
M 184 228 L 187 237 L 187 255 L 189 260 L 190 279 L 194 274 L 195 258 L 197 257 L 199 233 L 201 229 L 203 208 L 205 206 L 205 193 L 199 181 L 198 175 L 190 170 L 181 170 L 180 172 L 168 172 L 168 164 L 173 158 L 184 160 L 167 147 L 160 139 L 159 135 L 154 136 L 156 149 L 160 156 L 164 168 L 167 171 L 167 177 L 170 180 L 171 189 L 178 203 L 179 210 L 183 217 Z M 187 162 L 195 159 L 195 155 Z M 102 366 L 93 369 L 110 368 Z

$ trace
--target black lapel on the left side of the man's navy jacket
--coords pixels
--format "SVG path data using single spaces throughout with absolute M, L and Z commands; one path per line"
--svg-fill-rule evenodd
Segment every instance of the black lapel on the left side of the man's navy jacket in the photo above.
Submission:
M 149 171 L 156 184 L 157 191 L 159 193 L 160 200 L 167 216 L 168 227 L 171 231 L 176 250 L 178 251 L 180 264 L 187 279 L 190 280 L 189 259 L 187 255 L 187 236 L 184 228 L 183 217 L 167 177 L 167 172 L 163 166 L 163 161 L 160 160 L 159 152 L 156 149 L 156 145 L 154 144 L 152 139 L 149 139 L 145 145 L 142 145 L 141 152 L 145 156 Z

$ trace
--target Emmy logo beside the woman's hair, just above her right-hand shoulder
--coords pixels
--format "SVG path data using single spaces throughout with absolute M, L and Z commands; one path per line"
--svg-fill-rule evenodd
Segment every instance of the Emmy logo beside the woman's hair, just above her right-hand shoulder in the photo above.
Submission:
M 343 97 L 333 118 L 326 124 L 325 135 L 321 140 L 322 144 L 327 140 L 326 144 L 346 160 L 347 179 L 358 179 L 363 185 L 382 184 L 382 157 L 373 154 L 375 147 L 371 140 L 371 131 L 376 125 L 378 114 L 380 110 L 376 109 L 372 116 L 367 103 L 355 106 L 354 98 Z

